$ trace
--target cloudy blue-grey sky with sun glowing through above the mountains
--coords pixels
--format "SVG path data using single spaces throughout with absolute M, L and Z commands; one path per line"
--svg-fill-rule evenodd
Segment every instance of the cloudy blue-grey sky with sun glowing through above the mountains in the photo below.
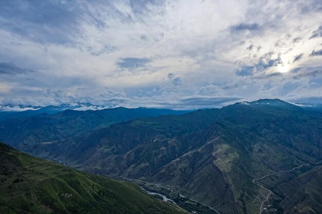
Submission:
M 322 1 L 0 1 L 0 103 L 322 103 Z

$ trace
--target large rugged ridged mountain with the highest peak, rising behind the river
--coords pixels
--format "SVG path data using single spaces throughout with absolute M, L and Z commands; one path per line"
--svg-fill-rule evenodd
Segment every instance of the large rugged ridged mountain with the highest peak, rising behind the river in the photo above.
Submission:
M 32 154 L 85 171 L 171 185 L 223 214 L 253 214 L 265 199 L 255 201 L 258 186 L 252 180 L 321 160 L 321 122 L 321 114 L 265 99 L 115 124 L 35 144 Z M 273 191 L 281 184 L 264 182 Z

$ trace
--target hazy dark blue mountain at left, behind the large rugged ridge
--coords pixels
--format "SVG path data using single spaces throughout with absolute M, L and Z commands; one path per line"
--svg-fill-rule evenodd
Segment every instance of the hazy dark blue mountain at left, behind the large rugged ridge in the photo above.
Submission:
M 27 151 L 34 144 L 75 137 L 83 132 L 108 127 L 119 122 L 186 112 L 188 111 L 123 107 L 95 111 L 68 109 L 55 114 L 42 113 L 24 118 L 7 119 L 0 123 L 0 140 Z

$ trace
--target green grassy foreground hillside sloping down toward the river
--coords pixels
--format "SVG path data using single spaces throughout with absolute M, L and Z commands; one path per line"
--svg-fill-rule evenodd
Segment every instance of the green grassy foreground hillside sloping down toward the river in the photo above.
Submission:
M 137 185 L 33 158 L 0 143 L 0 213 L 187 213 Z

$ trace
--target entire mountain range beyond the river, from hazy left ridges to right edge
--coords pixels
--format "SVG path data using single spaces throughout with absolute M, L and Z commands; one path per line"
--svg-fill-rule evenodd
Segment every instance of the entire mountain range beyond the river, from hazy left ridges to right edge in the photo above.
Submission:
M 278 99 L 188 113 L 133 111 L 65 110 L 6 120 L 0 140 L 221 214 L 322 210 L 320 111 Z

